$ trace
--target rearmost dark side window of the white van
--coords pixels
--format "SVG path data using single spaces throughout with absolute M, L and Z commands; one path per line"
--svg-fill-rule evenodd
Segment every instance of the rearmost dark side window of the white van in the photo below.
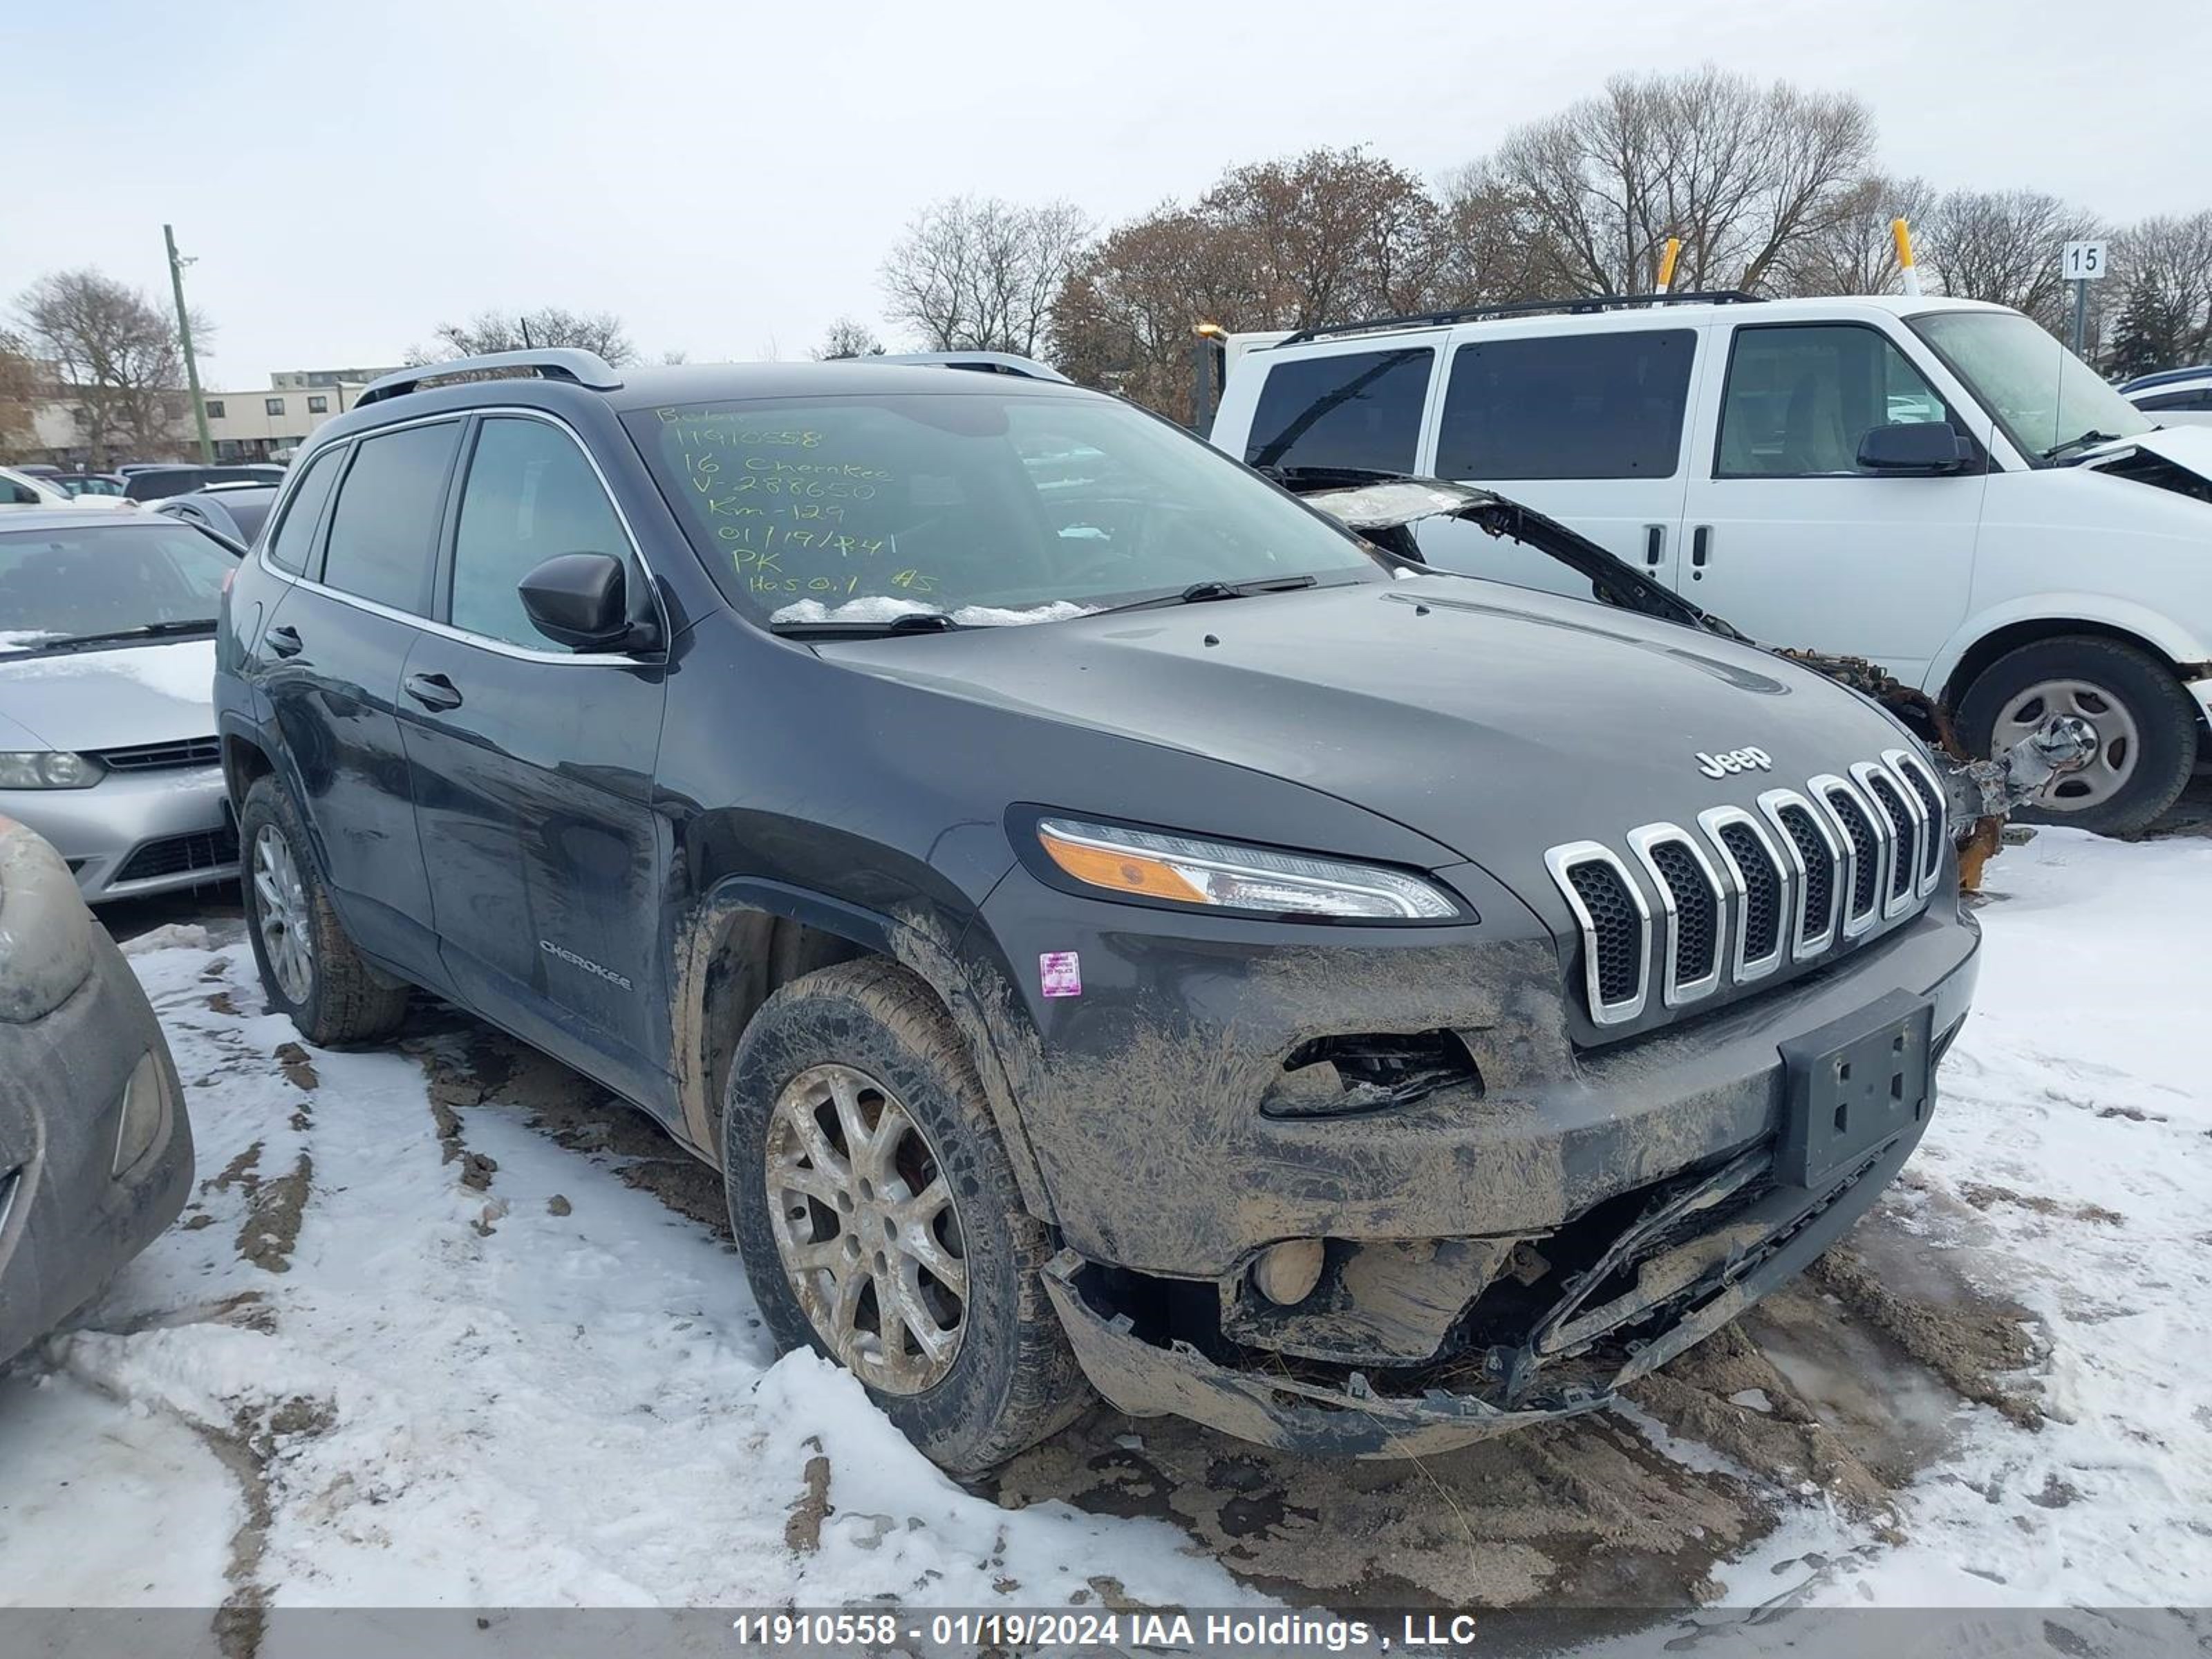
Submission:
M 1413 471 L 1433 363 L 1427 345 L 1276 363 L 1252 411 L 1245 462 Z

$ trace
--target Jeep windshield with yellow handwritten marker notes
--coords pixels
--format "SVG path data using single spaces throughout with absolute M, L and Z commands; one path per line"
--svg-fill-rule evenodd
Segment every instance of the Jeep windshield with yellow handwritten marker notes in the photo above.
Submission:
M 1329 522 L 1106 398 L 922 392 L 628 425 L 714 580 L 770 624 L 1000 626 L 1194 584 L 1387 580 Z

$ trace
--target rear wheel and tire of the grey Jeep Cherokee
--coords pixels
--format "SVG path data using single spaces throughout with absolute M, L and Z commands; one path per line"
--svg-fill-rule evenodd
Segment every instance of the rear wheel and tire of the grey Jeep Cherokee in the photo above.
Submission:
M 319 1048 L 376 1042 L 407 1018 L 407 987 L 378 973 L 330 902 L 299 807 L 274 776 L 254 779 L 239 810 L 246 936 L 270 1009 Z

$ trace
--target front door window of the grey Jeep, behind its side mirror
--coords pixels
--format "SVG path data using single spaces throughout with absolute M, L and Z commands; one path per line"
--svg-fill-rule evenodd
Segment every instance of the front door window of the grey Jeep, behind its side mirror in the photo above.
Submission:
M 613 553 L 639 580 L 622 520 L 575 440 L 544 420 L 487 420 L 453 533 L 453 626 L 553 650 L 515 584 L 557 553 Z

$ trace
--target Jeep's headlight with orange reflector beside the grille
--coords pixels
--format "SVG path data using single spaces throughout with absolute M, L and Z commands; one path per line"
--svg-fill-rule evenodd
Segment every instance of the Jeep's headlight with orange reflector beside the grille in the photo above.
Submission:
M 1040 818 L 1037 841 L 1064 874 L 1121 898 L 1363 922 L 1442 922 L 1464 916 L 1440 887 L 1418 876 L 1336 858 L 1161 836 L 1079 818 Z

